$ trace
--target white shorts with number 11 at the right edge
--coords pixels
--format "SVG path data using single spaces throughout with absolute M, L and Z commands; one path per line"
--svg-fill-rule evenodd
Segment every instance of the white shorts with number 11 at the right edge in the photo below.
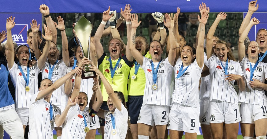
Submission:
M 240 117 L 242 123 L 254 124 L 258 119 L 267 118 L 266 106 L 241 102 Z

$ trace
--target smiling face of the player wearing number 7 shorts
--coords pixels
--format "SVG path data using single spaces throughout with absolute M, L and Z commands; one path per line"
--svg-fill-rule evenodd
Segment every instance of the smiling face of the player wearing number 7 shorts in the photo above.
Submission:
M 215 54 L 221 60 L 226 62 L 227 53 L 229 52 L 229 48 L 223 43 L 216 43 L 215 45 Z

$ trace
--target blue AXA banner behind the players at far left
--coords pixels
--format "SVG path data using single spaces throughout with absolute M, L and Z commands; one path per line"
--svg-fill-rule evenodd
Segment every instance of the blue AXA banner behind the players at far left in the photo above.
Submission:
M 0 31 L 6 30 L 6 19 L 10 16 L 15 17 L 15 26 L 12 29 L 12 39 L 18 44 L 27 44 L 27 31 L 31 28 L 32 19 L 40 24 L 42 31 L 42 14 L 41 13 L 0 13 Z

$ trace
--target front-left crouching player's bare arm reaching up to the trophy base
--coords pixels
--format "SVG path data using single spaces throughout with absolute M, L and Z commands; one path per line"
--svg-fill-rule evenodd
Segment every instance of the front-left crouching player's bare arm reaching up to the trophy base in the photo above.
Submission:
M 82 74 L 82 68 L 81 67 L 76 67 L 74 70 L 72 70 L 71 72 L 69 72 L 68 74 L 66 74 L 65 76 L 59 78 L 56 82 L 54 82 L 53 85 L 51 85 L 48 88 L 45 88 L 43 90 L 41 90 L 35 101 L 43 99 L 44 97 L 46 97 L 47 95 L 49 95 L 50 93 L 52 93 L 54 90 L 56 90 L 57 88 L 59 88 L 61 85 L 63 85 L 65 83 L 65 81 L 67 81 L 71 76 L 73 76 L 74 74 L 77 74 L 76 77 L 80 77 Z M 81 78 L 81 77 L 80 77 Z M 76 82 L 76 81 L 75 81 Z M 80 91 L 80 90 L 79 90 Z M 73 101 L 75 100 L 75 98 L 73 99 Z

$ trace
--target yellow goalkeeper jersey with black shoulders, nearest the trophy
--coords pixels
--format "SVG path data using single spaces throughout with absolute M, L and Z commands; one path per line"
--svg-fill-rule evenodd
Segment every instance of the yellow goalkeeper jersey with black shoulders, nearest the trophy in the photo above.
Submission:
M 114 68 L 118 59 L 111 60 L 112 67 Z M 104 74 L 106 79 L 108 80 L 109 84 L 112 86 L 114 91 L 121 91 L 124 94 L 125 101 L 128 101 L 128 91 L 127 91 L 127 82 L 128 82 L 128 75 L 130 72 L 130 68 L 132 66 L 132 62 L 129 62 L 124 55 L 121 58 L 120 63 L 118 64 L 117 68 L 115 69 L 115 73 L 113 79 L 111 78 L 111 71 L 109 65 L 109 56 L 105 53 L 98 59 L 98 69 Z M 108 100 L 108 95 L 105 89 L 105 86 L 101 82 L 101 91 L 103 95 L 103 100 Z

